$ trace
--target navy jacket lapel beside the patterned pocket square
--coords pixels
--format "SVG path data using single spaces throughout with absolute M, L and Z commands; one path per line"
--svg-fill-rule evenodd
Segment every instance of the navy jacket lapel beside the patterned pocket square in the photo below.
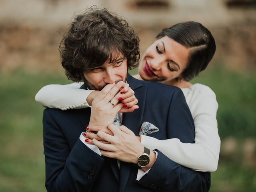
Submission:
M 124 113 L 122 125 L 126 126 L 134 132 L 136 136 L 139 135 L 140 126 L 142 124 L 145 102 L 146 102 L 146 86 L 143 86 L 142 82 L 134 79 L 128 74 L 127 82 L 132 90 L 135 92 L 135 96 L 138 99 L 139 108 L 131 113 Z M 129 163 L 120 161 L 120 192 L 123 192 L 127 184 L 130 175 L 131 166 Z

